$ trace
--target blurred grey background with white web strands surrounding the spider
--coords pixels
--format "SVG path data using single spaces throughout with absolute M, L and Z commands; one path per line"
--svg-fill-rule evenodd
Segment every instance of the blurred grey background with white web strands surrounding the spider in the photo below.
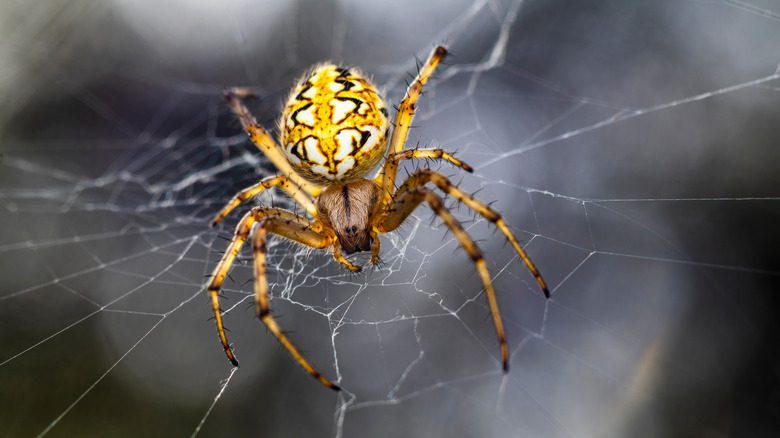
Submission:
M 778 426 L 777 3 L 167 8 L 0 7 L 0 434 Z M 269 242 L 274 313 L 342 393 L 254 317 L 246 249 L 224 286 L 231 368 L 204 285 L 241 212 L 208 222 L 273 169 L 221 90 L 257 87 L 250 108 L 271 127 L 294 78 L 333 59 L 397 103 L 414 55 L 442 42 L 453 56 L 409 144 L 474 165 L 423 164 L 495 201 L 552 289 L 545 300 L 500 233 L 450 204 L 487 255 L 509 374 L 479 278 L 426 207 L 382 237 L 380 269 L 357 275 Z M 281 193 L 256 202 L 292 208 Z

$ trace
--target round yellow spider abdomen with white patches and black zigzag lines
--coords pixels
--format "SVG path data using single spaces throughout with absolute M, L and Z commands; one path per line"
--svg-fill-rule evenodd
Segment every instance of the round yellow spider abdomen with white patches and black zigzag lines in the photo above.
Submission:
M 382 158 L 389 123 L 382 97 L 363 75 L 314 67 L 287 100 L 279 131 L 295 170 L 318 184 L 360 179 Z

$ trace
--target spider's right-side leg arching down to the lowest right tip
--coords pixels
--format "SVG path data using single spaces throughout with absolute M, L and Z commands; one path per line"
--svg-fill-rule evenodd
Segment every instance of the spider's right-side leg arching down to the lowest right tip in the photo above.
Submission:
M 450 231 L 452 231 L 452 234 L 455 235 L 460 246 L 471 258 L 474 267 L 482 279 L 482 286 L 485 288 L 490 314 L 493 316 L 493 326 L 496 329 L 498 343 L 501 348 L 501 363 L 504 372 L 506 372 L 509 370 L 509 349 L 506 344 L 504 323 L 501 320 L 501 311 L 498 308 L 496 292 L 493 290 L 493 283 L 490 281 L 490 273 L 485 265 L 485 259 L 477 244 L 469 237 L 468 233 L 466 233 L 457 219 L 452 216 L 452 213 L 447 210 L 441 198 L 425 187 L 405 185 L 398 190 L 395 201 L 387 210 L 389 213 L 383 218 L 383 221 L 379 223 L 378 229 L 380 232 L 389 232 L 396 229 L 423 201 L 426 201 L 428 205 L 431 206 L 434 213 L 436 213 Z

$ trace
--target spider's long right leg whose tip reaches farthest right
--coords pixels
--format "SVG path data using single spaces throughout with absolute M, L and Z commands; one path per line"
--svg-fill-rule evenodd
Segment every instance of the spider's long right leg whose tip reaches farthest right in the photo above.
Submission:
M 432 182 L 443 192 L 447 193 L 458 201 L 463 202 L 466 204 L 466 206 L 479 213 L 482 217 L 496 224 L 496 227 L 501 230 L 501 233 L 504 234 L 509 243 L 512 244 L 512 248 L 514 248 L 515 252 L 523 261 L 526 268 L 528 268 L 528 270 L 534 276 L 544 296 L 546 298 L 550 298 L 550 290 L 547 287 L 547 282 L 545 282 L 544 278 L 542 278 L 542 274 L 539 273 L 539 270 L 531 261 L 531 258 L 528 257 L 528 254 L 526 254 L 526 252 L 520 246 L 520 242 L 517 240 L 517 237 L 514 235 L 514 233 L 512 233 L 512 230 L 509 229 L 501 215 L 490 208 L 488 205 L 459 189 L 457 186 L 452 184 L 452 182 L 446 176 L 430 169 L 420 169 L 412 174 L 412 176 L 410 176 L 409 179 L 404 182 L 401 188 L 398 189 L 398 192 L 401 192 L 402 190 L 410 190 L 414 187 L 422 187 L 428 182 Z

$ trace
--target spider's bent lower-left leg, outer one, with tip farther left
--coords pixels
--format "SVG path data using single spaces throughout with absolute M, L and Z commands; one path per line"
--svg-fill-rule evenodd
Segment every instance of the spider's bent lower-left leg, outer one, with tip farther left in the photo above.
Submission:
M 246 215 L 244 215 L 236 227 L 236 232 L 233 236 L 233 239 L 230 241 L 230 245 L 228 245 L 227 250 L 225 250 L 225 254 L 222 255 L 222 259 L 214 269 L 214 274 L 212 275 L 211 282 L 209 283 L 208 287 L 209 297 L 211 298 L 211 305 L 214 310 L 214 320 L 217 324 L 217 334 L 219 335 L 219 341 L 222 344 L 222 347 L 225 349 L 225 354 L 227 355 L 228 359 L 230 359 L 230 362 L 233 364 L 233 366 L 238 366 L 238 360 L 236 360 L 236 357 L 233 354 L 233 350 L 231 350 L 230 344 L 228 343 L 227 336 L 225 335 L 225 326 L 222 321 L 222 310 L 220 309 L 219 305 L 219 289 L 222 287 L 222 283 L 225 281 L 225 277 L 227 277 L 228 272 L 230 272 L 230 268 L 238 256 L 239 251 L 241 251 L 241 247 L 249 237 L 249 233 L 252 230 L 252 225 L 256 221 L 267 217 L 273 217 L 275 221 L 281 221 L 282 223 L 287 224 L 288 227 L 284 234 L 282 234 L 282 232 L 279 234 L 288 239 L 295 240 L 296 242 L 299 242 L 303 245 L 313 248 L 325 248 L 330 242 L 326 236 L 323 236 L 314 231 L 312 229 L 312 224 L 309 221 L 287 210 L 282 210 L 280 208 L 258 207 L 253 208 Z

